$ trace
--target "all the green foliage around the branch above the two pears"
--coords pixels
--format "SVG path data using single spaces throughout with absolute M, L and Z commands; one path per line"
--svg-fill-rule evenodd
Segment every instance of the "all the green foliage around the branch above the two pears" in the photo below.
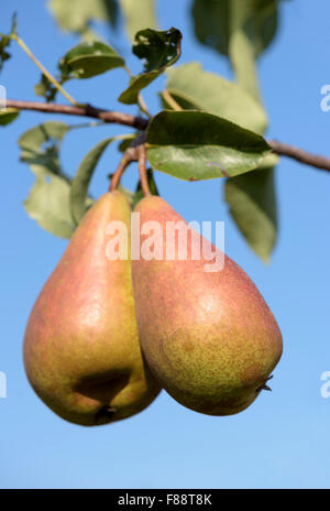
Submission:
M 79 39 L 58 56 L 57 63 L 44 63 L 46 68 L 53 68 L 56 83 L 65 86 L 68 80 L 91 80 L 102 75 L 107 87 L 114 72 L 127 72 L 120 95 L 111 98 L 111 109 L 120 110 L 120 104 L 131 105 L 132 113 L 139 108 L 140 116 L 148 121 L 147 178 L 153 193 L 158 193 L 157 172 L 184 181 L 221 178 L 229 214 L 263 261 L 270 260 L 277 237 L 274 180 L 278 157 L 271 153 L 264 139 L 268 120 L 261 101 L 256 65 L 276 37 L 279 3 L 191 0 L 189 15 L 196 40 L 206 51 L 228 59 L 234 76 L 228 80 L 200 62 L 180 63 L 185 34 L 175 26 L 158 29 L 156 0 L 47 2 L 58 29 Z M 0 73 L 13 58 L 16 31 L 14 18 L 11 31 L 0 34 Z M 118 51 L 116 41 L 121 31 L 141 64 L 135 75 Z M 24 39 L 24 34 L 20 35 Z M 37 74 L 36 70 L 35 95 L 48 104 L 58 100 L 58 87 L 48 76 Z M 165 80 L 158 79 L 161 76 Z M 148 116 L 144 97 L 147 99 L 153 83 L 158 84 L 160 108 Z M 0 128 L 9 127 L 18 116 L 13 108 L 1 110 Z M 86 129 L 94 129 L 95 124 L 89 128 L 86 123 Z M 94 203 L 90 183 L 96 168 L 106 165 L 107 148 L 117 143 L 120 160 L 134 138 L 141 135 L 135 130 L 129 135 L 100 138 L 87 154 L 82 151 L 76 173 L 68 175 L 61 149 L 75 128 L 47 121 L 31 127 L 19 140 L 21 160 L 35 176 L 24 202 L 25 210 L 42 228 L 62 238 L 73 235 Z M 138 180 L 134 191 L 123 192 L 134 205 L 142 195 L 141 183 Z

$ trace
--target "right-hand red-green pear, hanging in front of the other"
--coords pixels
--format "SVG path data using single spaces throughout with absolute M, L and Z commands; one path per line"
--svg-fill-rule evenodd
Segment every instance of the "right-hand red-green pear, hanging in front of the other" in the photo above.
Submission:
M 188 231 L 187 258 L 179 260 L 178 239 L 167 237 L 166 229 L 180 221 L 182 236 L 187 224 L 164 199 L 145 197 L 135 213 L 146 233 L 140 237 L 142 257 L 132 261 L 133 290 L 150 369 L 188 409 L 209 415 L 243 411 L 262 389 L 270 390 L 266 381 L 282 355 L 272 312 L 248 274 L 197 231 L 194 237 Z M 224 258 L 221 271 L 206 271 L 209 252 L 200 249 L 197 260 L 193 240 L 217 250 L 219 268 Z

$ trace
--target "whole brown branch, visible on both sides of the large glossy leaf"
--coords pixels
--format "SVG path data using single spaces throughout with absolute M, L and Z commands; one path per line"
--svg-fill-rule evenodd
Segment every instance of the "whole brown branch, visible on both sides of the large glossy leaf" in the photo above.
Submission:
M 50 113 L 66 113 L 69 116 L 92 117 L 95 119 L 100 119 L 103 122 L 130 126 L 132 128 L 136 128 L 138 130 L 145 130 L 148 124 L 148 119 L 144 119 L 143 117 L 112 110 L 102 110 L 100 108 L 92 107 L 91 105 L 80 105 L 76 107 L 70 105 L 57 105 L 37 101 L 16 101 L 13 99 L 8 99 L 6 105 L 8 108 L 16 108 L 18 110 L 36 110 Z M 267 142 L 271 145 L 273 152 L 279 156 L 292 157 L 293 160 L 297 160 L 298 162 L 306 165 L 330 172 L 330 159 L 326 156 L 308 153 L 302 149 L 278 142 L 277 140 L 268 140 Z

